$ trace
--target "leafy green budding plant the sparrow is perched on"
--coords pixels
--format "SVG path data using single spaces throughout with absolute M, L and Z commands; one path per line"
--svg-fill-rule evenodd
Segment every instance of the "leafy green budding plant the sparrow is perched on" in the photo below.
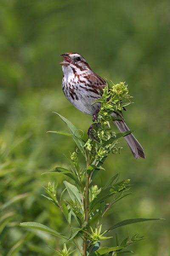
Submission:
M 118 112 L 118 110 L 122 111 L 123 108 L 121 107 L 121 104 L 125 106 L 123 100 L 130 98 L 130 96 L 127 94 L 127 86 L 125 86 L 124 83 L 120 83 L 119 85 L 116 84 L 112 87 L 108 87 L 107 85 L 106 89 L 103 89 L 103 92 L 102 99 L 100 100 L 101 111 L 99 111 L 99 118 L 93 123 L 93 128 L 96 132 L 93 135 L 89 133 L 91 139 L 88 139 L 86 142 L 79 134 L 77 128 L 70 121 L 68 121 L 68 119 L 58 114 L 60 118 L 68 125 L 70 130 L 70 134 L 65 132 L 62 133 L 61 131 L 59 131 L 59 134 L 73 137 L 73 140 L 80 149 L 86 163 L 86 168 L 80 166 L 77 154 L 76 152 L 73 152 L 70 159 L 68 159 L 71 163 L 70 170 L 57 167 L 50 171 L 50 173 L 60 172 L 68 176 L 72 182 L 74 182 L 73 185 L 66 180 L 64 181 L 65 189 L 68 192 L 70 200 L 63 199 L 63 196 L 60 196 L 60 200 L 58 199 L 59 195 L 57 193 L 57 186 L 55 186 L 54 182 L 52 184 L 51 182 L 48 182 L 48 185 L 45 188 L 45 191 L 50 197 L 47 197 L 46 195 L 44 195 L 44 197 L 61 210 L 66 221 L 68 222 L 70 235 L 68 236 L 67 234 L 65 236 L 49 227 L 46 227 L 45 225 L 36 222 L 24 222 L 20 224 L 23 227 L 42 230 L 47 233 L 51 233 L 54 236 L 58 236 L 62 239 L 70 241 L 71 244 L 73 244 L 74 247 L 79 250 L 79 253 L 84 256 L 107 255 L 108 253 L 118 255 L 119 252 L 126 252 L 126 247 L 129 244 L 143 239 L 143 237 L 139 237 L 139 233 L 133 235 L 132 239 L 130 240 L 128 237 L 124 239 L 121 246 L 119 246 L 117 241 L 117 246 L 115 247 L 101 247 L 100 241 L 111 239 L 112 236 L 107 237 L 104 235 L 118 227 L 141 221 L 155 220 L 154 218 L 127 219 L 114 224 L 108 229 L 105 229 L 103 232 L 101 231 L 101 222 L 105 213 L 113 204 L 130 194 L 127 193 L 127 191 L 130 189 L 130 179 L 118 181 L 118 174 L 114 175 L 111 180 L 109 180 L 108 183 L 101 188 L 98 188 L 97 185 L 92 185 L 94 182 L 94 177 L 99 170 L 102 169 L 103 172 L 106 172 L 102 168 L 102 165 L 106 157 L 108 157 L 108 155 L 111 153 L 111 150 L 115 147 L 117 138 L 120 137 L 120 135 L 126 135 L 126 133 L 122 133 L 119 134 L 119 136 L 115 134 L 115 136 L 111 137 L 111 129 L 108 129 L 106 125 L 108 124 L 110 127 L 108 121 L 111 120 L 109 118 L 109 113 L 111 114 L 113 111 Z M 110 107 L 107 108 L 109 105 Z M 100 125 L 102 127 L 100 127 Z M 105 134 L 105 131 L 107 132 L 108 136 L 107 138 L 104 137 L 104 140 L 102 140 L 102 137 L 98 137 L 97 134 Z M 58 132 L 55 131 L 55 133 Z M 94 152 L 92 151 L 93 148 L 95 148 Z M 62 191 L 62 195 L 65 192 L 65 189 Z M 77 224 L 76 227 L 75 223 Z M 77 241 L 79 237 L 82 238 L 82 244 L 78 243 Z M 52 250 L 55 251 L 54 249 Z M 74 252 L 74 250 L 72 252 Z M 61 256 L 68 256 L 70 254 L 69 250 L 67 250 L 66 244 L 64 244 L 63 250 L 60 250 L 58 254 Z

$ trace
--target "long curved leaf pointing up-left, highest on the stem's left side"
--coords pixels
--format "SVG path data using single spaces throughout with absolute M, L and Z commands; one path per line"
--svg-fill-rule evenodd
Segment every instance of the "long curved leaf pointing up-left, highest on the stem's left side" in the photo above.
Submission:
M 56 112 L 54 112 L 54 113 L 56 113 Z M 83 156 L 85 156 L 85 152 L 84 152 L 85 143 L 82 140 L 82 137 L 80 136 L 77 128 L 64 116 L 61 116 L 59 113 L 56 113 L 56 114 L 66 123 L 66 125 L 68 126 L 68 129 L 70 130 L 71 134 L 73 135 L 73 140 L 77 144 L 77 146 L 78 146 L 79 150 L 81 151 L 81 153 L 83 154 Z

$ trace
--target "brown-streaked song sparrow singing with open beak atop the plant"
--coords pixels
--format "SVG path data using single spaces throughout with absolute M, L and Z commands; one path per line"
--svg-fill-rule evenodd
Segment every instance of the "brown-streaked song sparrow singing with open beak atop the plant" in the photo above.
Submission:
M 68 99 L 79 111 L 85 114 L 94 116 L 100 109 L 100 103 L 96 102 L 91 105 L 96 99 L 101 98 L 102 88 L 105 87 L 106 82 L 100 76 L 96 75 L 89 67 L 85 58 L 78 53 L 61 54 L 64 61 L 59 64 L 62 65 L 63 79 L 62 90 Z M 122 113 L 121 117 L 122 117 Z M 113 112 L 113 116 L 120 117 Z M 124 120 L 113 121 L 119 131 L 130 131 Z M 145 158 L 144 150 L 138 140 L 133 134 L 128 134 L 125 137 L 134 157 Z

